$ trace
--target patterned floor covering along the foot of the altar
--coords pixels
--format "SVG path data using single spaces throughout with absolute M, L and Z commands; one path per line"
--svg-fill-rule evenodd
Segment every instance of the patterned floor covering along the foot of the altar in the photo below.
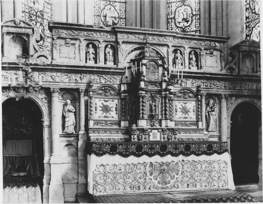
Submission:
M 78 195 L 79 203 L 237 203 L 262 202 L 262 189 L 210 190 L 91 196 Z

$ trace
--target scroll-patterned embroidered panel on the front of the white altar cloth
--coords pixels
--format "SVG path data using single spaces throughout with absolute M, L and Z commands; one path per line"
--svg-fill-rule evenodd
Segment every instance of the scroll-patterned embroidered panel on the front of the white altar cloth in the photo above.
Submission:
M 93 194 L 227 188 L 224 160 L 101 164 L 93 171 Z

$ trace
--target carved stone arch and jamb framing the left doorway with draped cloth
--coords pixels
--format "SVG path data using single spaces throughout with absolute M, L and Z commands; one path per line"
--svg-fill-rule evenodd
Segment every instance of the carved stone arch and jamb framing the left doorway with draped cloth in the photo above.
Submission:
M 7 88 L 2 88 L 2 104 L 10 97 Z M 39 107 L 42 113 L 43 124 L 43 152 L 44 152 L 44 179 L 43 179 L 43 203 L 48 203 L 49 184 L 50 184 L 50 116 L 51 116 L 51 97 L 48 91 L 43 90 L 39 95 L 28 94 L 28 98 Z

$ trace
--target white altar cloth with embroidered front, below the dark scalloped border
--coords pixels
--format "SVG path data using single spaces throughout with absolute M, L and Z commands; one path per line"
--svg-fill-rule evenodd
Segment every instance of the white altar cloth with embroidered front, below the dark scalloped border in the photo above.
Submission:
M 211 156 L 88 155 L 93 195 L 235 189 L 229 153 Z

